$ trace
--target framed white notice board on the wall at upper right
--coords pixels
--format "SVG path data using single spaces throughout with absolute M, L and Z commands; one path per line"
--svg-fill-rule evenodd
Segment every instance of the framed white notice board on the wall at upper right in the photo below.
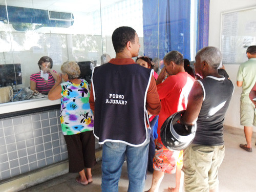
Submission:
M 256 45 L 256 7 L 223 12 L 220 36 L 223 63 L 248 60 L 246 49 Z

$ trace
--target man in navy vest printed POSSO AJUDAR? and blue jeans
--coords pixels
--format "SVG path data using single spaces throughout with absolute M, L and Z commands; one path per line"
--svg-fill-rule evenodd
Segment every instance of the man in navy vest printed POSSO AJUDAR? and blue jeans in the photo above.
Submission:
M 90 106 L 94 111 L 94 135 L 102 149 L 104 191 L 118 191 L 126 157 L 130 192 L 144 188 L 149 123 L 148 114 L 161 109 L 153 70 L 137 65 L 140 43 L 131 27 L 119 27 L 112 35 L 116 58 L 96 67 L 92 75 Z

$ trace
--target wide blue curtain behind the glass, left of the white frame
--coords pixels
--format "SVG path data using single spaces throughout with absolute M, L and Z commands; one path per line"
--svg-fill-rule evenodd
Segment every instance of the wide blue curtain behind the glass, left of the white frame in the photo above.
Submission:
M 144 55 L 172 50 L 190 59 L 190 0 L 143 0 Z

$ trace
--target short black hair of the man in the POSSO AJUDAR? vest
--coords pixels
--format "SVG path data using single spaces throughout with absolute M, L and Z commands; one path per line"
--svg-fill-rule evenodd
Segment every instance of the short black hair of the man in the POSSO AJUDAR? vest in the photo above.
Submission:
M 119 27 L 112 34 L 112 43 L 116 53 L 124 50 L 128 41 L 135 42 L 135 30 L 131 27 Z

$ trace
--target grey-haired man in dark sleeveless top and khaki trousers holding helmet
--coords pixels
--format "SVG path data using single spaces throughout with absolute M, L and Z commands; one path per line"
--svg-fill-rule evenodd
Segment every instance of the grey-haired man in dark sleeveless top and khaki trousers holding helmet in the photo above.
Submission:
M 218 168 L 225 151 L 223 122 L 234 90 L 232 82 L 218 74 L 221 60 L 222 54 L 215 47 L 205 47 L 196 55 L 195 71 L 202 79 L 195 81 L 181 117 L 183 124 L 197 122 L 195 139 L 184 150 L 186 192 L 214 192 L 219 188 Z

